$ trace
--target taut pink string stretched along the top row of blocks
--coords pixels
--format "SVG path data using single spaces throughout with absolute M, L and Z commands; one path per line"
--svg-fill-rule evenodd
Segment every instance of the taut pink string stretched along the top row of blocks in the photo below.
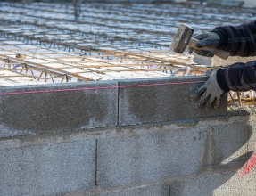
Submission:
M 10 95 L 10 94 L 43 94 L 43 93 L 60 93 L 60 92 L 70 92 L 70 91 L 92 91 L 92 90 L 105 90 L 105 89 L 115 89 L 115 88 L 131 88 L 131 87 L 144 87 L 144 86 L 169 86 L 169 85 L 186 85 L 186 84 L 196 84 L 203 83 L 205 81 L 194 81 L 194 82 L 169 82 L 161 84 L 143 84 L 136 86 L 105 86 L 105 87 L 84 87 L 84 88 L 68 88 L 68 89 L 54 89 L 54 90 L 41 90 L 41 91 L 22 91 L 22 92 L 5 92 L 0 93 L 0 95 Z

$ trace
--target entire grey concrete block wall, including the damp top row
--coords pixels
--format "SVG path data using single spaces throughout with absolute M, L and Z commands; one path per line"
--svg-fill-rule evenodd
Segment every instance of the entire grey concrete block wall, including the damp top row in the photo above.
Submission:
M 2 88 L 0 195 L 253 195 L 255 118 L 195 111 L 206 79 Z

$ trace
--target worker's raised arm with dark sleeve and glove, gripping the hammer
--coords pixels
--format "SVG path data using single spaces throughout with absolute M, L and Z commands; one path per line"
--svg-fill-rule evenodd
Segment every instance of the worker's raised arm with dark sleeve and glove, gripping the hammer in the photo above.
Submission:
M 200 40 L 196 44 L 199 48 L 208 46 L 226 50 L 231 56 L 253 56 L 256 55 L 256 20 L 238 26 L 220 26 L 194 38 Z M 192 52 L 193 49 L 189 48 L 189 53 Z M 194 52 L 202 56 L 213 56 L 209 51 Z

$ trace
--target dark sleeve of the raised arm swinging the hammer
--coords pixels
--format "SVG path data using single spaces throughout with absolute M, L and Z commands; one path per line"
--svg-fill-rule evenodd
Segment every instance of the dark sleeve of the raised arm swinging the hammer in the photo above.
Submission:
M 219 49 L 231 56 L 256 55 L 256 20 L 238 26 L 220 26 L 212 30 L 220 37 Z

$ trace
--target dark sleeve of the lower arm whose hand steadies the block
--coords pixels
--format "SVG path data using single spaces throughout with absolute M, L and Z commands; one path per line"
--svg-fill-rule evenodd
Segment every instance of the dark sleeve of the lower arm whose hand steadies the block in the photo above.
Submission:
M 237 62 L 217 71 L 219 87 L 224 91 L 256 91 L 256 61 Z

